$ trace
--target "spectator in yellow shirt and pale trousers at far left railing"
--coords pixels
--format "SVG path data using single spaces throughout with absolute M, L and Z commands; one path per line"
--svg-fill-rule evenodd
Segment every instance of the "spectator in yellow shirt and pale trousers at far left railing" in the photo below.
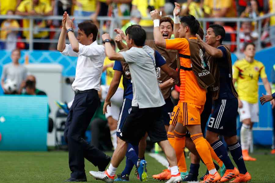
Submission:
M 8 10 L 7 15 L 13 15 L 13 11 Z M 12 30 L 14 28 L 19 28 L 19 23 L 16 20 L 7 19 L 1 24 L 1 39 L 5 40 L 5 49 L 14 50 L 16 48 L 17 40 L 17 30 Z

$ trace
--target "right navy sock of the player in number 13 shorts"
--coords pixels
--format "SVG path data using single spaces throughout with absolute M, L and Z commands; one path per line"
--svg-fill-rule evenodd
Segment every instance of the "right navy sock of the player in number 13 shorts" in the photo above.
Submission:
M 247 170 L 246 170 L 246 167 L 244 164 L 242 148 L 241 148 L 239 142 L 237 142 L 233 145 L 229 145 L 228 149 L 230 150 L 233 160 L 237 164 L 237 167 L 238 167 L 240 173 L 245 174 L 247 172 Z

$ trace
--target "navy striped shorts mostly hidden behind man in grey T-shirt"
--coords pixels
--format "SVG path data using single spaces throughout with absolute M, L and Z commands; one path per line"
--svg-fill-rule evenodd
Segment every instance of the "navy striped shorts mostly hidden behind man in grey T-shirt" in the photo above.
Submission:
M 116 136 L 119 138 L 121 138 L 120 133 L 121 133 L 123 124 L 125 122 L 125 119 L 130 113 L 131 107 L 132 107 L 132 100 L 125 98 L 123 100 L 122 108 L 119 114 L 119 120 L 117 121 Z

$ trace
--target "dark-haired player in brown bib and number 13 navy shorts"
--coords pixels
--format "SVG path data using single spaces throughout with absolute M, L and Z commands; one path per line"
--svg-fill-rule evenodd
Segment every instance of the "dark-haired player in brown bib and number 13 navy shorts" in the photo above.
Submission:
M 247 182 L 251 176 L 246 170 L 242 149 L 237 142 L 238 94 L 232 81 L 231 53 L 229 48 L 222 45 L 224 37 L 225 30 L 218 24 L 209 26 L 205 36 L 206 42 L 203 42 L 197 35 L 198 40 L 212 59 L 211 73 L 215 77 L 215 84 L 212 86 L 214 112 L 207 127 L 206 139 L 226 166 L 226 172 L 220 182 L 227 182 L 235 177 L 231 182 Z M 218 135 L 224 136 L 240 172 L 229 159 L 227 150 Z

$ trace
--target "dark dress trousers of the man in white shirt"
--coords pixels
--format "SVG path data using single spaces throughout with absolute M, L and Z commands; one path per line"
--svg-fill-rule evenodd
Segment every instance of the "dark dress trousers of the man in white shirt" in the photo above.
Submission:
M 84 139 L 85 131 L 99 106 L 97 90 L 75 95 L 70 108 L 64 131 L 69 148 L 69 167 L 72 178 L 84 178 L 84 158 L 94 164 L 105 162 L 106 154 Z M 105 160 L 105 161 L 104 161 Z

